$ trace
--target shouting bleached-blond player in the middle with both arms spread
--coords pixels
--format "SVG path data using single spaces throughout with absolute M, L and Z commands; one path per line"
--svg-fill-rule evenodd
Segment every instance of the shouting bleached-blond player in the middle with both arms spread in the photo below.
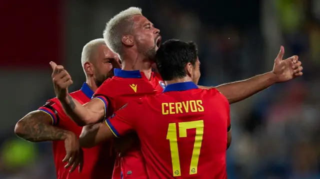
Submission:
M 66 113 L 80 126 L 94 124 L 103 118 L 108 118 L 114 111 L 125 106 L 127 102 L 145 95 L 161 93 L 162 88 L 165 86 L 159 74 L 151 70 L 156 50 L 159 48 L 161 41 L 159 29 L 155 28 L 142 15 L 140 8 L 129 7 L 112 17 L 106 23 L 103 38 L 108 47 L 119 55 L 122 61 L 122 69 L 115 69 L 114 77 L 106 80 L 86 105 L 82 106 L 67 93 L 68 80 L 65 81 L 62 78 L 55 77 L 54 72 L 63 69 L 63 67 L 53 67 L 52 78 L 54 78 L 55 93 Z M 282 60 L 283 54 L 284 48 L 281 46 L 272 71 L 247 80 L 220 85 L 216 89 L 231 104 L 241 101 L 277 82 L 284 82 L 296 76 L 301 76 L 302 67 L 298 57 L 292 56 Z M 171 70 L 170 66 L 162 67 L 161 69 Z M 63 71 L 63 73 L 69 77 L 66 71 Z M 82 135 L 94 135 L 98 130 L 98 128 L 91 129 L 91 131 L 82 131 Z M 118 136 L 118 134 L 114 135 Z M 229 135 L 230 131 L 228 137 L 230 137 Z M 194 136 L 190 137 L 194 138 Z M 128 134 L 122 136 L 115 143 L 121 144 L 119 145 L 121 146 L 120 149 L 129 149 L 119 158 L 123 179 L 147 179 L 144 160 L 139 148 L 140 143 L 136 135 Z M 93 143 L 82 145 L 91 147 Z M 117 166 L 116 164 L 113 179 L 121 177 L 120 172 L 117 171 Z

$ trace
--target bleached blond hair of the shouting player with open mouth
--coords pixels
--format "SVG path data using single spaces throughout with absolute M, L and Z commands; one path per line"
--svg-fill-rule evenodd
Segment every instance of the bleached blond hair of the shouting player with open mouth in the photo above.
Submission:
M 128 24 L 128 22 L 131 22 L 129 19 L 133 15 L 142 15 L 141 11 L 142 9 L 139 7 L 129 7 L 114 15 L 106 23 L 103 31 L 103 39 L 111 51 L 118 55 L 121 53 L 122 35 L 129 33 L 132 29 L 132 26 Z

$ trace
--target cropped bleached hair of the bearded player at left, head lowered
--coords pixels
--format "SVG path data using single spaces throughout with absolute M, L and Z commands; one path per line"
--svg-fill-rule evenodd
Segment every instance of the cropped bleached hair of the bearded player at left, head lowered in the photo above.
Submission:
M 103 38 L 97 38 L 97 39 L 91 40 L 83 46 L 82 53 L 81 53 L 81 65 L 83 70 L 84 70 L 84 63 L 91 60 L 92 54 L 96 51 L 96 48 L 99 45 L 105 45 L 105 41 Z

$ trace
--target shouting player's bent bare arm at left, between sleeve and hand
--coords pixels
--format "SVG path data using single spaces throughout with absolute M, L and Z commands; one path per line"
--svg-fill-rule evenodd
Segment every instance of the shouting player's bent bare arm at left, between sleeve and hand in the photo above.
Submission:
M 65 99 L 60 100 L 60 102 L 65 113 L 78 126 L 94 124 L 105 117 L 105 104 L 100 99 L 94 98 L 82 106 L 70 95 L 67 95 L 67 97 Z

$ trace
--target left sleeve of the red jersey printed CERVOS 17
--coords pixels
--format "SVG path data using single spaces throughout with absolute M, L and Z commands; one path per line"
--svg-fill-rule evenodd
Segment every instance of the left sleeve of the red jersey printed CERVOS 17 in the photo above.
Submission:
M 105 120 L 105 124 L 115 137 L 134 131 L 139 106 L 136 102 L 127 103 Z

